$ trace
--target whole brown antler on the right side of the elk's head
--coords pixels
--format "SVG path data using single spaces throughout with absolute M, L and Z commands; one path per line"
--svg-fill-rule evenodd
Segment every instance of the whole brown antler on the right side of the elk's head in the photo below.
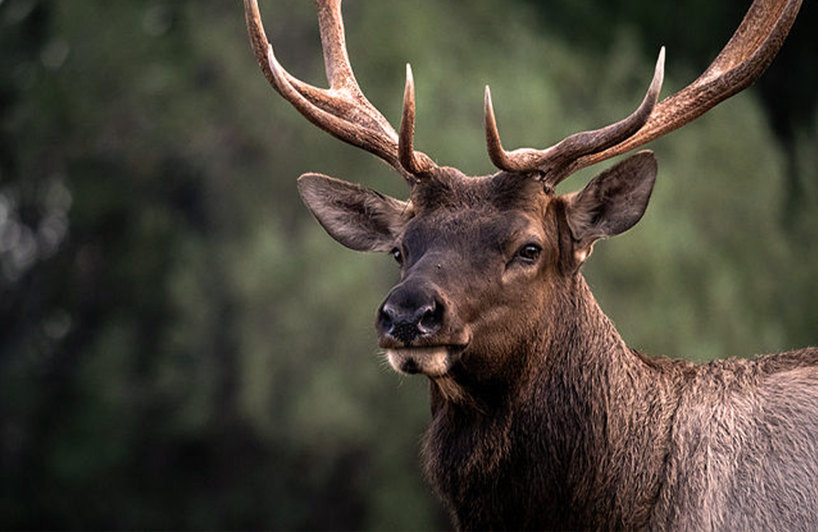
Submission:
M 491 96 L 486 87 L 489 157 L 501 170 L 538 172 L 546 183 L 556 186 L 580 168 L 626 153 L 672 132 L 761 77 L 784 43 L 800 7 L 801 0 L 755 0 L 739 29 L 735 30 L 733 37 L 704 74 L 654 107 L 649 100 L 658 96 L 657 82 L 661 84 L 664 58 L 662 49 L 654 81 L 645 101 L 634 114 L 612 126 L 569 136 L 546 150 L 502 149 Z

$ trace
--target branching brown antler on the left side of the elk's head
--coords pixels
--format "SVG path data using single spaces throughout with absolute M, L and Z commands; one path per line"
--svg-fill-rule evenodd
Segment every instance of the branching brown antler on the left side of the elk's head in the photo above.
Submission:
M 321 46 L 329 89 L 313 87 L 287 72 L 276 60 L 258 11 L 257 0 L 245 0 L 245 19 L 258 66 L 276 92 L 299 113 L 330 135 L 362 148 L 394 168 L 410 183 L 435 168 L 428 156 L 412 148 L 415 123 L 414 85 L 407 65 L 401 136 L 358 87 L 349 65 L 341 0 L 316 0 Z M 405 153 L 404 153 L 405 152 Z

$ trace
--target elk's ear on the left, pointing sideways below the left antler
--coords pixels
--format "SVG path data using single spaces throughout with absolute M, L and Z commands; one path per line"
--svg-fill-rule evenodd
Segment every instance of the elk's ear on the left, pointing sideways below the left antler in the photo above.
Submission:
M 326 232 L 355 251 L 391 251 L 407 222 L 406 202 L 334 177 L 306 173 L 299 193 Z

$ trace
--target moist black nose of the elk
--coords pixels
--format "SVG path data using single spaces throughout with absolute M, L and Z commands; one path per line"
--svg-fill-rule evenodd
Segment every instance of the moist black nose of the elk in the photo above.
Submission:
M 382 337 L 408 346 L 416 338 L 436 333 L 443 324 L 443 304 L 434 291 L 395 288 L 378 312 L 377 328 Z

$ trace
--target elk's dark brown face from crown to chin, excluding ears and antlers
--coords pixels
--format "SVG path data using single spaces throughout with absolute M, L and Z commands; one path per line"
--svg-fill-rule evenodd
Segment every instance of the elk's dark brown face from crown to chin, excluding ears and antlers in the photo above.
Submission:
M 560 200 L 517 174 L 444 171 L 413 190 L 376 329 L 399 372 L 492 380 L 536 334 L 519 316 L 541 314 L 558 274 Z

